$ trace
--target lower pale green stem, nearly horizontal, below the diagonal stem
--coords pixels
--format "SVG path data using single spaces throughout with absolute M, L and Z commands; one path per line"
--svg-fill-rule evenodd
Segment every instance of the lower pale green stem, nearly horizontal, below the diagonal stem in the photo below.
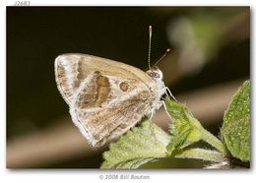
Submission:
M 223 153 L 204 149 L 184 150 L 174 153 L 173 156 L 178 158 L 196 158 L 215 162 L 222 162 L 225 160 Z

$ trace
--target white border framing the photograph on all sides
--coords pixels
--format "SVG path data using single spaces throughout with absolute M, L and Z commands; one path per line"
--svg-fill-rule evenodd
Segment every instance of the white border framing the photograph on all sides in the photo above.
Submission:
M 1 94 L 0 94 L 0 116 L 1 116 L 1 141 L 0 141 L 0 160 L 1 160 L 1 182 L 101 182 L 98 177 L 103 174 L 143 174 L 150 175 L 150 180 L 134 180 L 136 182 L 253 182 L 255 181 L 255 164 L 254 164 L 254 155 L 253 152 L 255 149 L 255 141 L 252 138 L 252 164 L 250 170 L 137 170 L 137 171 L 102 171 L 102 170 L 89 170 L 89 169 L 80 169 L 80 170 L 7 170 L 5 168 L 5 145 L 6 145 L 6 6 L 12 6 L 15 3 L 14 1 L 0 1 L 1 4 L 1 15 L 0 15 L 0 39 L 1 39 L 1 59 L 0 59 L 0 84 L 1 84 Z M 238 1 L 238 0 L 215 0 L 215 1 L 200 1 L 200 0 L 127 0 L 127 1 L 118 1 L 118 0 L 92 0 L 92 1 L 83 1 L 83 0 L 72 0 L 72 1 L 63 1 L 63 0 L 32 0 L 32 6 L 112 6 L 112 5 L 129 5 L 129 6 L 251 6 L 251 81 L 254 86 L 255 71 L 254 54 L 253 54 L 253 43 L 255 42 L 255 36 L 253 35 L 253 30 L 255 30 L 255 18 L 253 15 L 254 3 L 255 1 Z M 252 88 L 254 92 L 254 89 Z M 254 93 L 253 93 L 254 95 Z M 254 103 L 252 103 L 252 122 L 254 120 Z M 252 137 L 255 132 L 255 125 L 252 125 Z M 117 182 L 118 180 L 109 180 L 111 182 Z M 106 180 L 106 182 L 108 182 Z M 133 182 L 133 180 L 119 180 L 119 182 Z

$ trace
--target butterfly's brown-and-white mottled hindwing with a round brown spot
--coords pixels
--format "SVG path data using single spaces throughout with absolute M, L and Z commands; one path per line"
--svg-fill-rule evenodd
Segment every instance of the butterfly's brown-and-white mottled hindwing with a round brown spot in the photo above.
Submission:
M 101 146 L 134 126 L 155 97 L 134 78 L 95 72 L 81 83 L 71 102 L 73 122 L 93 146 Z

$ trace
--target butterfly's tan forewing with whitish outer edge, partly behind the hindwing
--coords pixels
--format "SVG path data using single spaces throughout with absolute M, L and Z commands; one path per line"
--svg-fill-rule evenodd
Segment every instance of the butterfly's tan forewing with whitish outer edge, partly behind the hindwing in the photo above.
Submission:
M 153 82 L 142 70 L 124 63 L 80 53 L 63 54 L 55 59 L 55 77 L 58 89 L 68 104 L 74 100 L 81 83 L 95 71 L 105 76 L 136 78 L 145 85 Z

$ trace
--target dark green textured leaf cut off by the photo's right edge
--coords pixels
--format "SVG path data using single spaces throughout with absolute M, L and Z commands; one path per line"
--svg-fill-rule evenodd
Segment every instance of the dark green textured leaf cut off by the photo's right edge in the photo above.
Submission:
M 242 161 L 250 160 L 250 82 L 234 94 L 224 112 L 222 137 L 228 151 Z

